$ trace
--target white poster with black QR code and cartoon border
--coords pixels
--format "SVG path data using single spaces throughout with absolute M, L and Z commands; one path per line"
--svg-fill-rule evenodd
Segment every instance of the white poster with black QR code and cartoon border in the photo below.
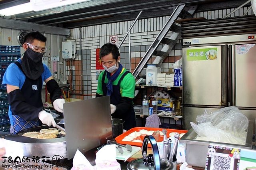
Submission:
M 240 149 L 209 145 L 205 170 L 239 170 Z

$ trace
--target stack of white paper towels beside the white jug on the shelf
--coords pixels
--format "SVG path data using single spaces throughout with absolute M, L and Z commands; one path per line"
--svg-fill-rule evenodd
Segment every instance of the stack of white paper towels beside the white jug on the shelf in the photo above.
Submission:
M 157 86 L 174 86 L 174 74 L 158 73 L 157 74 Z

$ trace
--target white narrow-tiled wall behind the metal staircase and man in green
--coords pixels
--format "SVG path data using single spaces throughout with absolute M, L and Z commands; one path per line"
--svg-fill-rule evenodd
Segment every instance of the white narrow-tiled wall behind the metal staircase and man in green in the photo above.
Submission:
M 240 8 L 233 14 L 228 17 L 234 16 L 243 16 L 244 12 L 248 9 L 248 7 Z M 207 11 L 207 12 L 198 12 L 194 14 L 194 18 L 204 17 L 206 19 L 216 19 L 216 18 L 224 18 L 227 14 L 229 14 L 234 9 L 226 9 L 226 10 L 216 10 L 216 11 Z M 252 9 L 249 10 L 248 14 L 252 15 Z M 163 28 L 164 24 L 168 21 L 169 16 L 166 17 L 158 17 L 158 18 L 149 18 L 138 20 L 134 27 L 130 32 L 130 42 L 131 46 L 137 47 L 141 45 L 150 46 L 156 36 L 159 34 L 160 30 Z M 79 29 L 72 29 L 72 38 L 76 40 L 76 50 L 80 50 L 80 45 L 82 46 L 82 50 L 89 49 L 90 50 L 90 62 L 91 62 L 91 75 L 87 75 L 87 77 L 91 78 L 91 91 L 88 93 L 96 94 L 97 82 L 96 82 L 96 48 L 100 48 L 105 43 L 109 42 L 109 36 L 118 36 L 118 43 L 122 41 L 128 29 L 132 25 L 133 21 L 126 22 L 118 22 L 111 24 L 102 24 L 97 26 L 88 26 L 82 28 L 82 44 L 80 44 L 80 33 Z M 181 41 L 179 41 L 181 42 Z M 124 41 L 121 47 L 128 47 L 129 41 L 128 37 Z M 126 51 L 125 51 L 126 52 Z M 121 59 L 124 58 L 124 54 L 121 53 Z M 136 51 L 131 52 L 131 57 L 143 57 L 146 51 Z M 180 56 L 180 50 L 172 50 L 169 53 L 169 56 Z M 125 56 L 126 58 L 126 56 Z M 127 61 L 127 60 L 123 60 Z M 129 64 L 129 62 L 122 63 Z M 173 63 L 164 63 L 162 66 L 163 71 L 168 71 L 169 67 L 172 67 Z M 126 67 L 126 69 L 129 69 Z

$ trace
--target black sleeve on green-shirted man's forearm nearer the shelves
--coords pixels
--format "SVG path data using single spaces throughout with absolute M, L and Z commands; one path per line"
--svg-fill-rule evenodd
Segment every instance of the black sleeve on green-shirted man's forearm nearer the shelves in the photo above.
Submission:
M 120 116 L 126 113 L 132 106 L 132 99 L 129 97 L 122 97 L 120 103 L 116 105 L 116 111 L 112 114 L 113 116 Z

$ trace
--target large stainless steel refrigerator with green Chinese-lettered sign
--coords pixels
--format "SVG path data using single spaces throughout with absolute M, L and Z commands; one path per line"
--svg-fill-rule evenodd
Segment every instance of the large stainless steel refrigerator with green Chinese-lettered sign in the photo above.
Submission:
M 238 107 L 256 117 L 255 34 L 184 39 L 182 44 L 183 128 L 204 109 Z

